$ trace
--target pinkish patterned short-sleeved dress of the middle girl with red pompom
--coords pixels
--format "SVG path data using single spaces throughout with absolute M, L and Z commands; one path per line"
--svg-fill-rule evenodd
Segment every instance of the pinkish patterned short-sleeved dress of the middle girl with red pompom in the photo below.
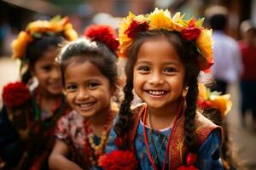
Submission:
M 94 151 L 89 144 L 84 142 L 84 139 L 88 139 L 88 133 L 85 133 L 83 116 L 80 116 L 76 111 L 70 111 L 66 116 L 62 116 L 58 122 L 55 136 L 69 146 L 72 161 L 83 169 L 93 167 L 90 156 L 94 156 Z M 101 138 L 96 135 L 94 135 L 93 140 L 96 145 L 101 142 Z

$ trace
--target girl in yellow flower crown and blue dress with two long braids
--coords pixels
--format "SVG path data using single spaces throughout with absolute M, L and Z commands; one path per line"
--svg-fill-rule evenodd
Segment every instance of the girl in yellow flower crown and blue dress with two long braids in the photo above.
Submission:
M 223 168 L 220 127 L 196 109 L 197 77 L 212 65 L 211 31 L 201 27 L 202 20 L 183 16 L 171 18 L 156 8 L 123 20 L 120 49 L 129 57 L 125 99 L 108 139 L 109 154 L 99 160 L 103 168 L 113 162 L 115 169 L 119 162 L 131 169 Z M 145 104 L 131 111 L 133 88 Z M 117 150 L 130 150 L 139 163 L 131 152 Z M 124 156 L 129 160 L 119 159 Z

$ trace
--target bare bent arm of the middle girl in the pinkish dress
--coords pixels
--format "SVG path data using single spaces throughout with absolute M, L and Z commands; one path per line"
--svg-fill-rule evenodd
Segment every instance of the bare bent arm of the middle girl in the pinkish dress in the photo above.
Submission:
M 67 159 L 68 153 L 68 145 L 60 139 L 56 139 L 54 149 L 49 156 L 49 168 L 54 170 L 82 170 L 82 168 L 73 161 Z

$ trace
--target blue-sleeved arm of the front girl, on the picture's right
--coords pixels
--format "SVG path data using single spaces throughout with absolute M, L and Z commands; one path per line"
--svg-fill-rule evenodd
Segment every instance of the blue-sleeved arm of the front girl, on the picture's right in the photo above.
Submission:
M 196 167 L 201 170 L 224 169 L 220 159 L 220 150 L 220 136 L 218 130 L 214 130 L 197 151 Z

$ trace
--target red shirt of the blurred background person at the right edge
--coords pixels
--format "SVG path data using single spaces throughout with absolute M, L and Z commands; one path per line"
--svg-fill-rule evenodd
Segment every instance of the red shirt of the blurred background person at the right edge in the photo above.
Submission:
M 243 63 L 242 80 L 256 81 L 256 47 L 249 46 L 246 42 L 241 41 L 241 60 Z

